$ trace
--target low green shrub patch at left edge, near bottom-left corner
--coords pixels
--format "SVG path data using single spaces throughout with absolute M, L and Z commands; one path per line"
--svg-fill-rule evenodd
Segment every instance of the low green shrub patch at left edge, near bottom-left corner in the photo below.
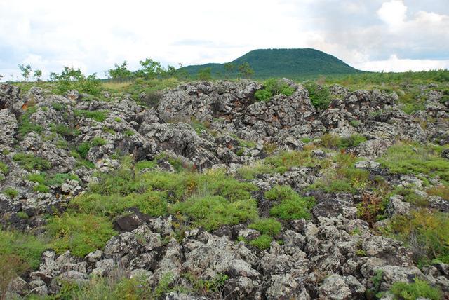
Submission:
M 15 254 L 30 268 L 41 264 L 41 254 L 48 245 L 41 238 L 19 231 L 0 231 L 0 256 Z

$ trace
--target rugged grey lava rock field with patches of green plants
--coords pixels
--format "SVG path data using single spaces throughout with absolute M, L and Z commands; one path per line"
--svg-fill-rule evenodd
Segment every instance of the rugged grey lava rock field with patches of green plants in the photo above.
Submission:
M 397 282 L 449 299 L 442 93 L 406 114 L 335 85 L 319 110 L 283 83 L 266 102 L 255 81 L 183 83 L 153 107 L 2 84 L 2 232 L 43 245 L 6 296 L 131 278 L 149 299 L 394 299 Z

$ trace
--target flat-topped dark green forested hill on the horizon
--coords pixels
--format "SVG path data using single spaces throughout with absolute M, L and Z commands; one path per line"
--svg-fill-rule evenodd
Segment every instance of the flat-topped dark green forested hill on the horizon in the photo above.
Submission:
M 210 67 L 215 78 L 237 75 L 237 67 L 248 62 L 255 71 L 254 78 L 288 77 L 290 79 L 304 76 L 329 74 L 361 73 L 333 55 L 319 50 L 306 49 L 259 49 L 253 50 L 233 60 L 235 69 L 229 72 L 225 64 L 201 64 L 183 67 L 191 76 L 198 71 Z

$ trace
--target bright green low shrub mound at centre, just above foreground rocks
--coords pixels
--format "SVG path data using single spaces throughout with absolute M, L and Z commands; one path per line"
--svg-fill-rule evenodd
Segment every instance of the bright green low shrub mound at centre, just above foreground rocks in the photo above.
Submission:
M 213 231 L 223 225 L 234 225 L 257 217 L 255 200 L 229 201 L 223 196 L 192 196 L 173 205 L 173 212 L 181 212 L 194 226 Z

